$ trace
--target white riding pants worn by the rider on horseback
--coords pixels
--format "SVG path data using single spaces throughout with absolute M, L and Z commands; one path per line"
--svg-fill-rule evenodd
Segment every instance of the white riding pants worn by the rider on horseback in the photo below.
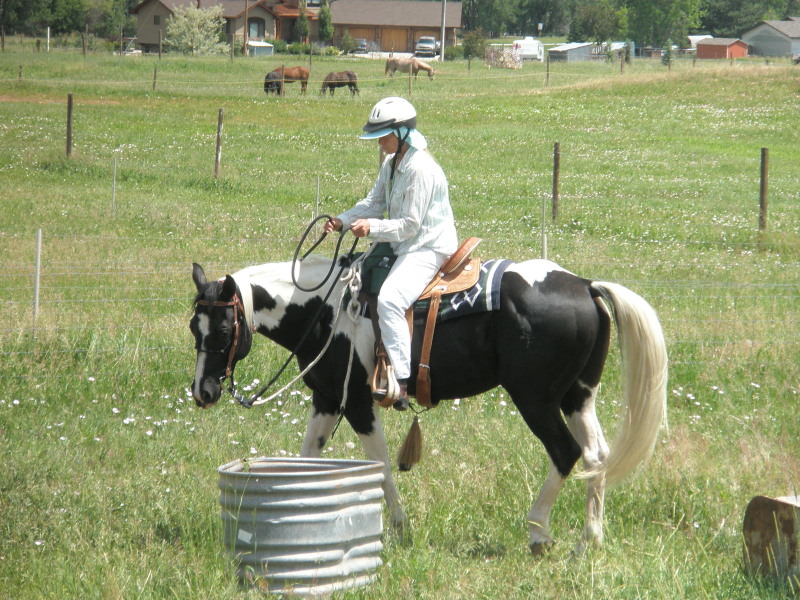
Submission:
M 411 376 L 411 334 L 406 311 L 448 257 L 422 248 L 397 257 L 378 294 L 378 325 L 397 379 Z

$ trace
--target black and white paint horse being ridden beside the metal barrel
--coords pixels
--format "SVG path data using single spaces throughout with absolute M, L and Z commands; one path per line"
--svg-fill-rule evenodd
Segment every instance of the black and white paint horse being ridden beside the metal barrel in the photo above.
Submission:
M 310 289 L 330 267 L 330 260 L 309 256 L 295 269 L 298 286 Z M 249 352 L 253 331 L 296 350 L 303 369 L 330 337 L 327 351 L 304 376 L 313 402 L 300 453 L 320 455 L 346 399 L 344 417 L 366 455 L 385 465 L 390 522 L 402 528 L 406 515 L 392 478 L 380 408 L 368 384 L 374 365 L 372 325 L 349 313 L 342 317 L 338 304 L 344 282 L 336 283 L 325 302 L 324 293 L 295 287 L 291 268 L 290 262 L 265 264 L 209 282 L 202 267 L 194 265 L 197 296 L 190 327 L 197 347 L 195 401 L 205 408 L 219 400 L 221 380 Z M 550 472 L 528 513 L 531 550 L 539 553 L 552 543 L 550 512 L 580 458 L 588 494 L 579 547 L 599 544 L 606 485 L 620 481 L 650 456 L 666 417 L 667 354 L 661 326 L 652 307 L 629 289 L 577 277 L 549 261 L 511 265 L 502 275 L 500 292 L 499 310 L 437 324 L 430 360 L 432 400 L 503 386 L 550 457 Z M 318 311 L 319 322 L 296 349 Z M 240 328 L 234 326 L 236 320 Z M 609 448 L 595 401 L 612 321 L 619 333 L 624 398 L 620 431 Z M 415 327 L 412 364 L 419 364 L 422 329 Z M 414 388 L 411 379 L 412 395 Z

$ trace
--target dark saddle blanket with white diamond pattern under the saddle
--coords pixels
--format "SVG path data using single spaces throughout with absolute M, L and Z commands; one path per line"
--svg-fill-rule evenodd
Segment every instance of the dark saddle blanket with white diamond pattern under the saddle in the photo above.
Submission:
M 463 292 L 444 294 L 439 306 L 439 320 L 448 321 L 479 312 L 498 310 L 500 308 L 500 281 L 506 269 L 514 264 L 507 259 L 487 260 L 481 263 L 478 282 Z M 427 315 L 429 300 L 417 300 L 414 303 L 414 316 Z

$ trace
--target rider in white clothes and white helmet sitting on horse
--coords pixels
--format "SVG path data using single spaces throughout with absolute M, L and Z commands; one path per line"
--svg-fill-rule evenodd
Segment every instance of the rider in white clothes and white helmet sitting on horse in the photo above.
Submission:
M 399 384 L 398 410 L 408 407 L 411 376 L 406 311 L 458 246 L 447 178 L 416 123 L 404 98 L 384 98 L 372 108 L 360 137 L 377 139 L 386 160 L 367 197 L 325 224 L 327 232 L 349 228 L 356 237 L 389 242 L 397 255 L 378 295 L 378 322 Z

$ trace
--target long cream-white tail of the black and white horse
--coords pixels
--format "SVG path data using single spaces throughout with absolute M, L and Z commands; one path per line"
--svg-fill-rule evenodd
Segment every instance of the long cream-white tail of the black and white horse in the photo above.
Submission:
M 650 458 L 658 432 L 666 425 L 667 348 L 655 310 L 644 298 L 616 283 L 596 281 L 592 288 L 613 309 L 622 355 L 623 412 L 600 467 L 613 485 Z

